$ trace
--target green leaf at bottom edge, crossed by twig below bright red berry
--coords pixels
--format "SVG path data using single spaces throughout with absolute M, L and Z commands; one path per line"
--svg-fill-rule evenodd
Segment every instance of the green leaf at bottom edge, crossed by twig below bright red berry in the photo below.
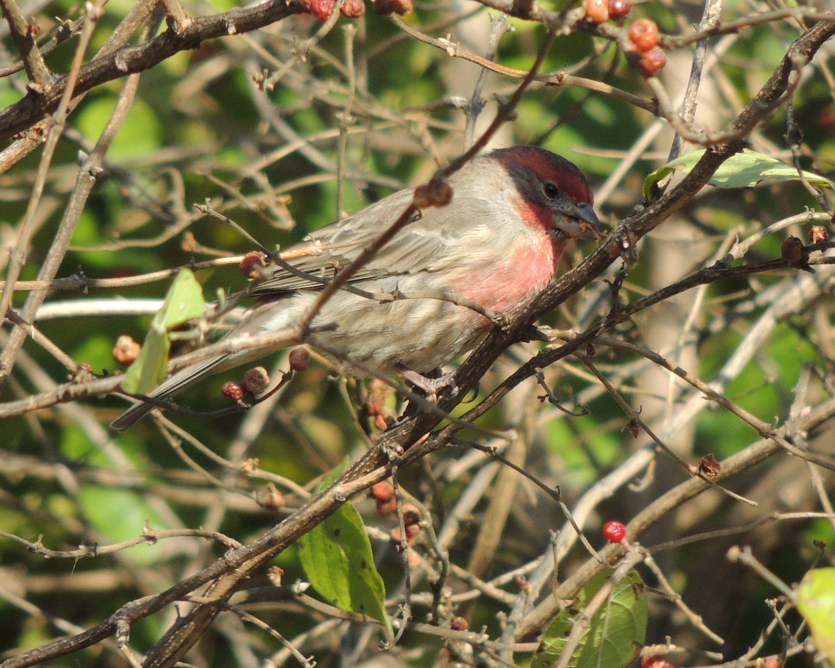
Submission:
M 563 610 L 551 622 L 531 661 L 531 668 L 556 665 L 572 627 L 612 572 L 613 569 L 609 569 L 596 575 L 580 592 L 577 605 Z M 630 570 L 615 584 L 609 600 L 591 618 L 569 660 L 569 668 L 616 668 L 635 660 L 644 645 L 646 620 L 644 583 L 635 570 Z

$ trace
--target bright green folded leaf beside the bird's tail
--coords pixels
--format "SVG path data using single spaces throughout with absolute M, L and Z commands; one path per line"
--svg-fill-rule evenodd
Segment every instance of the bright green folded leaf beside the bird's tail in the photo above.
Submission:
M 162 308 L 154 316 L 139 357 L 124 372 L 122 389 L 125 392 L 143 393 L 159 385 L 168 369 L 168 353 L 171 349 L 169 332 L 202 316 L 204 310 L 205 301 L 200 283 L 188 269 L 180 271 L 165 296 Z

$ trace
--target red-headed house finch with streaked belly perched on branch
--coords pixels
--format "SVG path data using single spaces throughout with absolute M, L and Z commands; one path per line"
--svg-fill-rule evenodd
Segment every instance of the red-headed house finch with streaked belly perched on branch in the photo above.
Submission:
M 513 311 L 548 284 L 567 240 L 600 236 L 589 182 L 574 164 L 547 150 L 494 150 L 458 170 L 448 184 L 453 198 L 447 205 L 422 210 L 348 281 L 362 291 L 407 298 L 379 301 L 337 291 L 311 322 L 314 331 L 306 343 L 337 356 L 349 372 L 356 362 L 382 376 L 400 373 L 432 392 L 424 374 L 473 348 L 492 324 L 439 297 L 463 296 L 492 311 Z M 412 189 L 389 195 L 316 230 L 286 255 L 307 275 L 332 278 L 397 220 L 413 195 Z M 294 253 L 311 244 L 316 252 Z M 321 281 L 269 267 L 247 291 L 260 298 L 258 304 L 229 336 L 291 331 L 322 288 Z M 408 298 L 418 291 L 430 296 Z M 269 352 L 249 350 L 186 367 L 150 396 L 173 396 L 207 374 Z M 366 373 L 355 370 L 355 375 Z M 137 403 L 112 427 L 127 428 L 152 408 Z

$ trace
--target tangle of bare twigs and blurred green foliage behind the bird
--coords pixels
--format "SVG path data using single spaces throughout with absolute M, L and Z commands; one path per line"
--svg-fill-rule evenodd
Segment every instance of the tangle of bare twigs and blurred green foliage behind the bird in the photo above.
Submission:
M 547 1 L 322 22 L 300 0 L 0 0 L 2 665 L 527 665 L 603 568 L 590 549 L 624 556 L 611 519 L 649 585 L 642 655 L 812 665 L 790 597 L 726 552 L 788 585 L 832 565 L 832 194 L 706 181 L 744 147 L 835 171 L 825 4 L 653 0 L 598 25 Z M 624 52 L 636 18 L 662 33 L 653 78 Z M 286 246 L 482 139 L 573 160 L 613 233 L 463 364 L 465 397 L 409 407 L 314 354 L 249 412 L 109 430 L 114 342 L 142 340 L 175 269 L 209 299 L 245 286 L 250 242 L 195 205 Z M 183 403 L 229 406 L 225 380 Z M 420 514 L 405 559 L 367 492 L 392 473 Z M 346 498 L 395 629 L 411 615 L 395 645 L 300 584 L 296 540 Z

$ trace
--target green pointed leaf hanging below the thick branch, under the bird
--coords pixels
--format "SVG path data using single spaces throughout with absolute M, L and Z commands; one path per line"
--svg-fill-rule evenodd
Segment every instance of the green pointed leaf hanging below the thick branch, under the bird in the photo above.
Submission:
M 338 474 L 331 473 L 320 489 L 326 488 Z M 326 601 L 381 621 L 388 636 L 392 636 L 385 609 L 386 588 L 374 566 L 362 518 L 350 502 L 302 536 L 296 546 L 307 579 Z

